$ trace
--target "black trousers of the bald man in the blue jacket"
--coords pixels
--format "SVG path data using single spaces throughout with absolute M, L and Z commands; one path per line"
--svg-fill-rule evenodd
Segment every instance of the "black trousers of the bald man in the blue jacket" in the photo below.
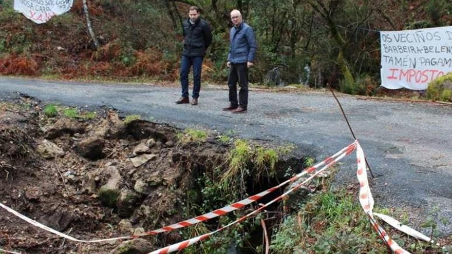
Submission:
M 240 86 L 237 101 L 237 81 Z M 231 106 L 240 106 L 244 109 L 248 106 L 248 67 L 247 63 L 231 64 L 228 76 L 229 102 Z

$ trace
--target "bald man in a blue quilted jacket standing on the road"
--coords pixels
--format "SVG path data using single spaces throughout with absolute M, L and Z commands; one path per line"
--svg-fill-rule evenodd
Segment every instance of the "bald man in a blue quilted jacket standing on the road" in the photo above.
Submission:
M 231 11 L 231 21 L 234 26 L 230 32 L 231 46 L 227 62 L 230 105 L 223 110 L 244 113 L 248 107 L 248 69 L 254 65 L 257 44 L 253 29 L 243 22 L 239 10 Z M 238 101 L 237 81 L 240 86 Z

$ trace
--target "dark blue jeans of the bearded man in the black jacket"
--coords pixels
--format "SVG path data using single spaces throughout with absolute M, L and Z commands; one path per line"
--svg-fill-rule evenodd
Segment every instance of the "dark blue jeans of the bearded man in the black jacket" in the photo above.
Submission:
M 180 85 L 182 87 L 182 96 L 189 97 L 189 71 L 193 66 L 193 93 L 192 97 L 198 99 L 201 90 L 201 68 L 202 56 L 185 56 L 182 55 L 180 63 Z

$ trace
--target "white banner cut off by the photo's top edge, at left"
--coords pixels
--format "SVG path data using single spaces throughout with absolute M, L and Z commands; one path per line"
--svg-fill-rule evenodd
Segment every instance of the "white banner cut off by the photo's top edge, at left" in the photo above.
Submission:
M 34 23 L 42 24 L 70 10 L 73 0 L 14 0 L 14 10 Z

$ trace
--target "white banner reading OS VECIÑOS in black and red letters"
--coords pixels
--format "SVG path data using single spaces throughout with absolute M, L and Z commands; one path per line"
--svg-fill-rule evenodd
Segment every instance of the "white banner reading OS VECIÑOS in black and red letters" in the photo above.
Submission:
M 452 71 L 452 26 L 382 31 L 381 80 L 389 89 L 425 90 Z

